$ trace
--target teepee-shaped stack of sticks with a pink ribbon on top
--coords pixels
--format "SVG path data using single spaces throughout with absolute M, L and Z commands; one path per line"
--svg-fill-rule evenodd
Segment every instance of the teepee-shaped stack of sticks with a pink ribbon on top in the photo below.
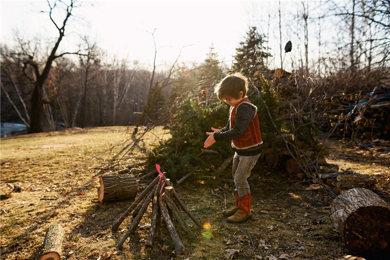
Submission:
M 159 167 L 157 169 L 159 170 Z M 189 250 L 183 245 L 176 232 L 176 227 L 174 225 L 173 219 L 178 222 L 189 240 L 193 240 L 195 238 L 195 235 L 186 223 L 186 220 L 180 213 L 179 209 L 183 210 L 195 222 L 196 226 L 199 229 L 202 228 L 202 225 L 184 205 L 182 200 L 180 200 L 175 189 L 173 188 L 172 183 L 168 179 L 166 179 L 162 173 L 160 173 L 160 175 L 158 175 L 156 179 L 153 180 L 149 184 L 149 186 L 145 188 L 145 190 L 138 196 L 138 198 L 132 203 L 132 205 L 112 226 L 112 229 L 114 231 L 117 230 L 123 220 L 125 220 L 130 215 L 130 213 L 132 213 L 132 223 L 125 235 L 117 243 L 116 248 L 121 248 L 123 243 L 130 236 L 130 234 L 134 232 L 150 203 L 152 203 L 152 219 L 146 245 L 153 245 L 153 239 L 158 236 L 160 232 L 162 218 L 175 245 L 175 256 L 188 253 Z

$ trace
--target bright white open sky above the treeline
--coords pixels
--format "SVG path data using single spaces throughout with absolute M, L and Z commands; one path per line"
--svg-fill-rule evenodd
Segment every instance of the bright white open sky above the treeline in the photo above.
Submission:
M 268 2 L 262 2 L 269 5 Z M 232 60 L 235 48 L 248 31 L 248 8 L 243 1 L 83 1 L 94 7 L 76 8 L 75 20 L 65 29 L 73 42 L 78 35 L 89 35 L 110 54 L 129 60 L 152 62 L 154 43 L 151 33 L 156 28 L 156 46 L 162 47 L 157 58 L 202 61 L 211 44 L 219 58 Z M 57 36 L 49 20 L 46 1 L 1 0 L 1 42 L 11 43 L 15 30 L 23 38 Z M 59 20 L 60 21 L 60 20 Z M 70 34 L 72 33 L 72 34 Z M 65 48 L 67 42 L 61 42 Z

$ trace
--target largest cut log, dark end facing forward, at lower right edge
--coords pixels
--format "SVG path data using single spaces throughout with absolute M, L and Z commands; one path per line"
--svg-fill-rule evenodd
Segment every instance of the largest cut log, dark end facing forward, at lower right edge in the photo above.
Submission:
M 341 192 L 331 221 L 346 247 L 367 259 L 389 259 L 390 204 L 364 188 Z

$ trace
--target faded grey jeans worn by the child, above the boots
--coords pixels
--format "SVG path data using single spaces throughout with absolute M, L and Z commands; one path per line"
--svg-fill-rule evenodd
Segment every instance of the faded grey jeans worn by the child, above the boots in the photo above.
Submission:
M 251 171 L 259 157 L 260 154 L 252 156 L 241 156 L 237 153 L 234 154 L 232 169 L 235 185 L 234 193 L 238 192 L 238 197 L 240 199 L 251 192 L 247 179 L 251 176 Z

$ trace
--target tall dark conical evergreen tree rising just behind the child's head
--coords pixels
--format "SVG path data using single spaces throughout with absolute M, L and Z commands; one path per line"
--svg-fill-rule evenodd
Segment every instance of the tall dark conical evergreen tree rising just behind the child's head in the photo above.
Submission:
M 265 35 L 260 35 L 257 28 L 252 26 L 244 41 L 239 43 L 234 56 L 232 71 L 242 71 L 244 75 L 250 77 L 255 71 L 267 69 L 265 60 L 271 57 L 270 53 L 265 51 L 264 43 L 267 42 Z

